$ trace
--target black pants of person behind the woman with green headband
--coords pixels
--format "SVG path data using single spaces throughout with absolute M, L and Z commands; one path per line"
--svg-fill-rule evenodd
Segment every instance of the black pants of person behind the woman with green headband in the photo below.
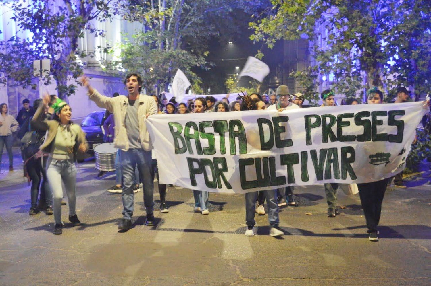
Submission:
M 31 158 L 28 160 L 26 166 L 28 175 L 31 178 L 31 207 L 35 208 L 37 206 L 37 194 L 39 194 L 39 189 L 41 190 L 39 203 L 45 206 L 52 206 L 52 195 L 48 186 L 45 171 L 42 169 L 41 158 Z M 42 184 L 41 178 L 43 178 Z

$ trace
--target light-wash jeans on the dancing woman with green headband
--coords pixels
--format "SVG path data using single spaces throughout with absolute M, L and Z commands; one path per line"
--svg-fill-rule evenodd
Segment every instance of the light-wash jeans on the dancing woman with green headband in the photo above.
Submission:
M 76 205 L 76 167 L 72 160 L 51 160 L 47 169 L 47 177 L 50 190 L 53 195 L 54 221 L 56 224 L 62 224 L 61 220 L 61 199 L 63 190 L 61 182 L 64 183 L 66 195 L 69 203 L 69 215 L 75 215 Z

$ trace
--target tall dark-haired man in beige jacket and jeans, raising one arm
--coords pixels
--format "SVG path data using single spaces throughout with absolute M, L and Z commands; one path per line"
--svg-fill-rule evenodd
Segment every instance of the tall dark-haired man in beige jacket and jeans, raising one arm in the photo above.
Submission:
M 133 180 L 137 166 L 144 189 L 144 206 L 147 212 L 146 225 L 154 224 L 153 215 L 153 176 L 151 174 L 151 150 L 153 145 L 145 125 L 149 115 L 157 113 L 157 105 L 151 96 L 140 94 L 142 79 L 138 74 L 128 74 L 124 80 L 128 95 L 107 97 L 92 88 L 87 77 L 81 83 L 88 89 L 90 99 L 101 108 L 114 114 L 114 146 L 119 148 L 122 168 L 123 218 L 118 229 L 120 232 L 132 228 L 131 217 L 134 211 Z

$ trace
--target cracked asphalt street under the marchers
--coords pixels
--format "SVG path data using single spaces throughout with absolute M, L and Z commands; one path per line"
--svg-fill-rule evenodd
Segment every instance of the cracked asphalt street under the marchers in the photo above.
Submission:
M 380 240 L 370 242 L 359 196 L 338 192 L 340 215 L 326 216 L 322 185 L 297 187 L 299 206 L 280 209 L 285 235 L 270 237 L 267 215 L 244 232 L 244 195 L 211 193 L 210 213 L 193 211 L 191 190 L 169 187 L 169 213 L 147 227 L 142 191 L 134 228 L 117 232 L 121 194 L 113 172 L 97 178 L 94 161 L 78 164 L 77 214 L 54 235 L 53 215 L 28 215 L 30 187 L 14 149 L 15 171 L 0 171 L 0 285 L 430 285 L 431 185 L 426 175 L 389 187 Z M 67 201 L 67 198 L 65 198 Z

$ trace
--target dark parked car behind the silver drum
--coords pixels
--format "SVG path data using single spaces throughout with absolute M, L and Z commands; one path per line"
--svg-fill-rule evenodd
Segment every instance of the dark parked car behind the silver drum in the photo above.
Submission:
M 88 141 L 88 154 L 94 154 L 94 148 L 104 143 L 103 123 L 106 120 L 106 111 L 94 111 L 85 117 L 81 123 L 81 128 L 85 132 L 85 138 Z

